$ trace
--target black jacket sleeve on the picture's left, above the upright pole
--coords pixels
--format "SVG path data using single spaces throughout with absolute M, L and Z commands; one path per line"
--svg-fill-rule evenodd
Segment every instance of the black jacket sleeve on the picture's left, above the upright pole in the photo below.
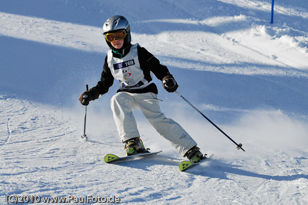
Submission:
M 108 92 L 109 87 L 113 84 L 113 76 L 111 74 L 110 68 L 108 67 L 107 63 L 107 56 L 105 58 L 105 63 L 101 75 L 101 80 L 98 82 L 98 84 L 90 89 L 92 92 L 94 99 L 98 99 L 100 95 L 104 95 Z

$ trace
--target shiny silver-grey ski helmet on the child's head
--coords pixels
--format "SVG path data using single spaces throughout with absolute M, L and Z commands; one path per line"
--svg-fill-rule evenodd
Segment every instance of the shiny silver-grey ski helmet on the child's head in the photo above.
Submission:
M 130 36 L 130 25 L 127 21 L 127 19 L 124 16 L 121 15 L 115 15 L 106 20 L 106 22 L 103 25 L 103 34 L 104 38 L 106 40 L 106 34 L 112 33 L 119 30 L 125 30 L 126 36 L 124 38 L 124 44 L 123 47 L 127 46 L 131 41 Z M 113 48 L 111 46 L 111 43 L 106 40 L 106 43 L 108 44 L 109 48 Z

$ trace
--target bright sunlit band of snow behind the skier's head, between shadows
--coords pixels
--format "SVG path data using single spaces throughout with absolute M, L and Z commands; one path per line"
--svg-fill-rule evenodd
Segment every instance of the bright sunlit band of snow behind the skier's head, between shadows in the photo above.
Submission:
M 189 10 L 189 7 L 185 9 L 179 6 L 179 8 L 183 13 L 199 17 L 198 13 L 193 9 Z M 218 9 L 221 10 L 220 7 Z M 262 10 L 259 12 L 263 14 Z M 255 15 L 256 13 L 254 12 Z M 290 15 L 293 13 L 292 10 L 288 12 Z M 247 14 L 251 13 L 247 12 Z M 300 16 L 295 16 L 294 21 L 297 21 L 298 17 L 306 18 L 307 15 L 307 13 L 303 13 Z M 105 52 L 107 49 L 107 46 L 101 41 L 103 36 L 98 27 L 3 12 L 0 12 L 0 18 L 3 20 L 0 25 L 2 35 L 85 51 Z M 292 33 L 294 36 L 283 35 L 285 30 L 293 28 L 286 25 L 283 25 L 285 28 L 269 26 L 266 25 L 265 18 L 242 14 L 210 17 L 201 21 L 189 19 L 146 20 L 139 22 L 139 24 L 162 22 L 178 24 L 179 28 L 187 25 L 191 31 L 185 30 L 182 34 L 179 31 L 165 31 L 148 35 L 146 39 L 143 38 L 144 34 L 132 31 L 132 35 L 133 41 L 139 42 L 146 48 L 156 50 L 153 54 L 162 56 L 161 59 L 166 65 L 223 73 L 308 77 L 306 66 L 308 64 L 308 36 L 297 36 L 299 33 L 306 33 L 305 30 L 300 32 L 294 29 L 294 34 Z M 198 26 L 198 30 L 194 31 L 196 26 Z M 194 36 L 194 38 L 187 39 L 186 36 Z M 299 39 L 300 37 L 302 39 Z M 169 38 L 172 41 L 168 41 Z M 202 44 L 191 47 L 190 45 L 194 45 L 195 41 L 202 42 Z M 185 44 L 181 42 L 185 42 Z M 181 49 L 174 53 L 174 47 Z M 286 52 L 279 49 L 281 47 L 284 47 Z M 227 52 L 221 53 L 226 49 Z M 191 52 L 187 52 L 187 50 Z M 168 55 L 171 59 L 168 58 Z M 260 59 L 259 55 L 263 59 L 262 63 L 255 60 Z M 249 65 L 249 63 L 253 65 Z M 264 66 L 263 69 L 256 69 L 256 63 L 267 66 Z M 208 64 L 217 65 L 208 66 Z

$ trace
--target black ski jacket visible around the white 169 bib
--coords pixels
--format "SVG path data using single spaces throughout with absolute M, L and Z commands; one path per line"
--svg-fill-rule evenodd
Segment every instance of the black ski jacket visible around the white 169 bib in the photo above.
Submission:
M 119 51 L 112 51 L 112 56 L 114 58 L 121 58 L 127 55 L 130 51 L 131 44 L 123 49 L 121 54 Z M 154 57 L 150 52 L 148 52 L 145 48 L 138 46 L 137 48 L 138 52 L 138 59 L 140 63 L 140 68 L 142 69 L 144 73 L 145 79 L 149 78 L 148 82 L 151 81 L 150 77 L 150 71 L 155 74 L 155 76 L 159 80 L 163 80 L 165 76 L 171 76 L 169 73 L 169 70 L 166 66 L 160 64 L 159 60 Z M 90 89 L 90 91 L 93 94 L 94 99 L 98 99 L 100 95 L 104 95 L 108 92 L 109 87 L 113 84 L 113 76 L 111 74 L 110 68 L 108 67 L 107 63 L 107 57 L 105 58 L 105 63 L 103 67 L 103 72 L 101 76 L 101 80 L 98 82 L 98 84 Z M 158 89 L 155 83 L 151 83 L 145 88 L 142 89 L 119 89 L 117 92 L 125 91 L 125 92 L 132 92 L 132 93 L 145 93 L 145 92 L 153 92 L 155 94 L 158 94 Z

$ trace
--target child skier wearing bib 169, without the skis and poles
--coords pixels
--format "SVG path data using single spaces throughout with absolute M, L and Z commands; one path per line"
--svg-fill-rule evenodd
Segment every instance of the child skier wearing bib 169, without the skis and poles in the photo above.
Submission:
M 110 47 L 101 80 L 90 90 L 81 94 L 81 104 L 98 99 L 108 92 L 113 80 L 119 80 L 120 89 L 111 98 L 113 118 L 127 155 L 148 152 L 140 140 L 133 110 L 139 108 L 157 132 L 171 142 L 177 152 L 190 161 L 204 159 L 197 143 L 174 120 L 161 112 L 157 99 L 158 89 L 153 74 L 162 81 L 168 92 L 174 92 L 178 84 L 168 68 L 139 44 L 130 44 L 130 25 L 125 17 L 115 15 L 103 25 L 103 34 Z

